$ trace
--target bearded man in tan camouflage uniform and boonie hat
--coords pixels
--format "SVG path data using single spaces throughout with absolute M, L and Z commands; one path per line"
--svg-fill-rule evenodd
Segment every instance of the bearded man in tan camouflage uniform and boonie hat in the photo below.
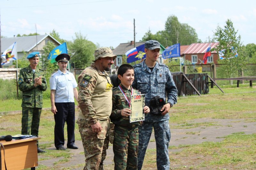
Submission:
M 112 83 L 108 71 L 116 55 L 108 47 L 98 48 L 95 60 L 78 77 L 78 127 L 84 146 L 84 169 L 103 169 L 108 149 L 109 116 L 112 110 Z M 106 140 L 107 138 L 107 140 Z M 101 164 L 101 165 L 100 165 Z

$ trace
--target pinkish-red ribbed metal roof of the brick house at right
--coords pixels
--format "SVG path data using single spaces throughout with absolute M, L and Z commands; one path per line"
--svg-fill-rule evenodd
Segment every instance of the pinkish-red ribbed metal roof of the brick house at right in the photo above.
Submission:
M 211 48 L 216 47 L 218 44 L 219 42 L 212 42 Z M 183 54 L 205 53 L 208 47 L 210 47 L 210 43 L 193 43 L 183 52 Z M 212 53 L 216 53 L 216 51 L 213 51 Z M 182 54 L 181 51 L 180 54 Z

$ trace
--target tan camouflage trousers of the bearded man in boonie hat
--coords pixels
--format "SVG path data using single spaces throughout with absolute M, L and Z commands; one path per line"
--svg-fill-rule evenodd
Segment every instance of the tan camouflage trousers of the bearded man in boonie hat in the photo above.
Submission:
M 85 119 L 78 119 L 78 128 L 82 138 L 84 146 L 85 166 L 87 169 L 99 169 L 102 153 L 106 153 L 108 149 L 108 134 L 110 129 L 110 121 L 99 120 L 102 130 L 99 133 L 92 131 L 91 123 Z M 106 140 L 107 139 L 107 140 Z M 105 141 L 106 140 L 106 141 Z M 106 154 L 103 155 L 103 160 L 106 158 Z

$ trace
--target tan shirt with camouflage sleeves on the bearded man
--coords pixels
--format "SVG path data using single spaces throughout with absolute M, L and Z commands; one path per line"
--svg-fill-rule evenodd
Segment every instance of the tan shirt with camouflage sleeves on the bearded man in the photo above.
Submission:
M 98 71 L 92 64 L 78 77 L 78 103 L 81 111 L 78 119 L 91 124 L 106 120 L 112 111 L 112 88 L 108 73 Z

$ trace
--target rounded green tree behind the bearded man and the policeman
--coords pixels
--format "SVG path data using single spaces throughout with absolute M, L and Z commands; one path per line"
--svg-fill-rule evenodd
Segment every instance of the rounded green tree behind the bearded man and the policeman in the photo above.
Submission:
M 75 33 L 76 38 L 70 44 L 70 61 L 74 63 L 76 68 L 85 68 L 91 65 L 94 60 L 94 51 L 96 45 L 92 41 L 88 41 L 81 33 Z

